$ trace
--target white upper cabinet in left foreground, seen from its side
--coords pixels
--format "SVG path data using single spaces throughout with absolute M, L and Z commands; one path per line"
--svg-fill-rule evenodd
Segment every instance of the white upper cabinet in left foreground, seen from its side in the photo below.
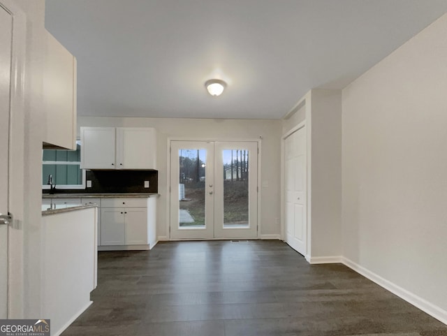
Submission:
M 43 77 L 45 148 L 76 149 L 76 59 L 47 32 Z

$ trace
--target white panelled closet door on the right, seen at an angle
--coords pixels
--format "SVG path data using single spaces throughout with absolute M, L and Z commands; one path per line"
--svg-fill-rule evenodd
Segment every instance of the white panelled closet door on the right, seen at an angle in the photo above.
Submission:
M 306 126 L 284 140 L 286 242 L 303 256 L 307 244 Z

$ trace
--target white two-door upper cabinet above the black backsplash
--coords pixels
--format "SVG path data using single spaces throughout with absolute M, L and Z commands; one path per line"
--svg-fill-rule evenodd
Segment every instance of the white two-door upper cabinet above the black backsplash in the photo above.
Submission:
M 152 128 L 81 127 L 81 166 L 85 169 L 156 169 Z

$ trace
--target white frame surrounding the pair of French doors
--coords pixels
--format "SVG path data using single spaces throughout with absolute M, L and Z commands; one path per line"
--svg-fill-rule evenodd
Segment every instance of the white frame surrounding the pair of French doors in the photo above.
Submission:
M 1 1 L 1 0 L 0 0 Z M 170 237 L 170 142 L 171 141 L 213 141 L 213 142 L 256 142 L 258 143 L 258 219 L 257 219 L 257 234 L 256 238 L 259 239 L 262 235 L 262 226 L 261 226 L 261 162 L 262 162 L 262 136 L 259 136 L 259 138 L 190 138 L 190 137 L 179 137 L 179 136 L 173 136 L 168 137 L 166 139 L 166 191 L 168 192 L 168 196 L 166 198 L 166 224 L 165 224 L 165 230 L 166 230 L 166 237 L 160 237 L 159 240 L 179 240 L 179 239 L 173 239 Z M 228 240 L 235 239 L 235 238 L 228 238 Z M 198 239 L 188 239 L 184 238 L 181 240 L 198 240 Z M 222 240 L 222 238 L 210 238 L 206 240 Z

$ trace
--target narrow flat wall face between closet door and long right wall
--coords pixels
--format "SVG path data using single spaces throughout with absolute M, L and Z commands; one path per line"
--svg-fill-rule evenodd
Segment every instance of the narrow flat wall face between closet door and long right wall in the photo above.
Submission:
M 342 254 L 342 92 L 314 89 L 311 96 L 311 262 L 323 262 Z

